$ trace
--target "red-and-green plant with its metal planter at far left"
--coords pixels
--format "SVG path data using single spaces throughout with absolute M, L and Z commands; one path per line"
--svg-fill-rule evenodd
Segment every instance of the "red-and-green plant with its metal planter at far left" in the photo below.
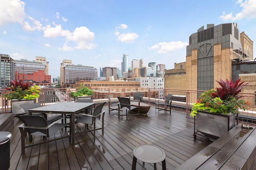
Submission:
M 10 91 L 4 94 L 3 97 L 11 100 L 14 114 L 24 114 L 25 111 L 20 106 L 35 103 L 35 99 L 40 96 L 41 89 L 38 86 L 32 86 L 30 82 L 24 82 L 24 80 L 11 80 L 10 84 L 9 88 L 6 88 Z

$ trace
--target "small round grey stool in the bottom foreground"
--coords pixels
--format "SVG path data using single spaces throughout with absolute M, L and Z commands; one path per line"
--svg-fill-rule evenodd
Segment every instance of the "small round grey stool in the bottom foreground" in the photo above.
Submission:
M 166 154 L 164 150 L 155 145 L 139 145 L 133 150 L 132 170 L 136 170 L 137 159 L 146 163 L 154 164 L 154 170 L 156 170 L 156 163 L 162 162 L 162 169 L 166 170 L 165 163 Z

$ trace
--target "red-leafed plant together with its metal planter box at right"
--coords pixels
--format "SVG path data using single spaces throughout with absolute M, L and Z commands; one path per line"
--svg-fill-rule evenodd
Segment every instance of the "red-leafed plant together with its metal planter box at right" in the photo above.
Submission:
M 248 109 L 249 102 L 240 98 L 244 96 L 237 96 L 242 88 L 248 83 L 240 83 L 237 80 L 226 80 L 224 82 L 220 79 L 217 81 L 220 88 L 208 90 L 201 94 L 200 99 L 192 106 L 190 115 L 196 116 L 196 130 L 204 136 L 218 139 L 221 135 L 226 133 L 235 126 L 235 115 L 239 114 L 238 109 Z M 194 138 L 196 132 L 194 131 Z

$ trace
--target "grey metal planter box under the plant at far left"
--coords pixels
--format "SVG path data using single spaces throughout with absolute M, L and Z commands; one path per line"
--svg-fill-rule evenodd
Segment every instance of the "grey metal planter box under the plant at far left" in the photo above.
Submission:
M 36 100 L 26 100 L 26 99 L 22 99 L 20 101 L 13 99 L 11 101 L 12 104 L 12 113 L 14 115 L 24 115 L 26 114 L 26 112 L 24 111 L 24 109 L 22 109 L 22 105 L 24 104 L 32 104 L 32 103 L 36 103 Z

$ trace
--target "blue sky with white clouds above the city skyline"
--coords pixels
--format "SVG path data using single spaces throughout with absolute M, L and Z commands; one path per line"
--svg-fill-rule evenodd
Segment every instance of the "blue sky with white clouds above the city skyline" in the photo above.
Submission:
M 123 54 L 172 69 L 207 24 L 236 22 L 256 40 L 256 0 L 0 0 L 0 11 L 0 54 L 46 57 L 52 78 L 63 59 L 121 69 Z

